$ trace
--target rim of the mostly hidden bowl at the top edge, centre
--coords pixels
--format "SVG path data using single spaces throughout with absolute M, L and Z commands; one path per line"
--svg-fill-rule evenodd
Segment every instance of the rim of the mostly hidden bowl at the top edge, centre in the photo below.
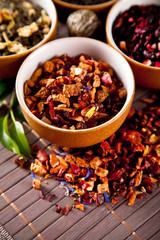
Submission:
M 90 10 L 98 10 L 98 9 L 103 9 L 104 7 L 109 7 L 117 0 L 109 0 L 108 2 L 105 3 L 98 3 L 98 4 L 92 4 L 92 5 L 80 5 L 80 4 L 74 4 L 74 3 L 68 3 L 64 2 L 63 0 L 53 0 L 56 4 L 66 7 L 66 8 L 71 8 L 71 9 L 90 9 Z

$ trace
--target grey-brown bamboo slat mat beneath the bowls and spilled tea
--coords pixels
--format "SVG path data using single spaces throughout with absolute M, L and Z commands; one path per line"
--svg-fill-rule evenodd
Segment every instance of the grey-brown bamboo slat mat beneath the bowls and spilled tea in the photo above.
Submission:
M 58 23 L 57 38 L 68 36 L 65 24 Z M 136 87 L 133 107 L 143 107 L 140 101 L 151 90 Z M 40 138 L 23 124 L 30 144 L 50 148 L 51 143 Z M 154 188 L 147 198 L 128 206 L 125 199 L 100 207 L 85 205 L 85 211 L 72 208 L 68 215 L 56 213 L 55 204 L 73 205 L 65 197 L 59 181 L 42 179 L 45 199 L 32 188 L 30 171 L 14 163 L 16 155 L 0 145 L 0 239 L 15 240 L 158 240 L 160 239 L 160 191 Z M 51 194 L 56 198 L 48 201 Z M 4 237 L 4 229 L 9 235 Z

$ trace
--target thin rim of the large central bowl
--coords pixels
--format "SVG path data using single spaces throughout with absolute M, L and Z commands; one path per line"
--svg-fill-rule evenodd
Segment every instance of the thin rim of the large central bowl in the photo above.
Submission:
M 114 54 L 116 54 L 119 58 L 121 58 L 121 60 L 123 60 L 123 62 L 125 63 L 126 67 L 128 68 L 128 70 L 130 71 L 130 74 L 132 76 L 131 79 L 131 85 L 130 87 L 132 87 L 132 91 L 130 92 L 130 94 L 128 95 L 128 91 L 127 91 L 127 98 L 126 101 L 124 103 L 124 105 L 122 106 L 122 108 L 120 109 L 120 111 L 113 116 L 110 120 L 106 121 L 105 123 L 102 123 L 98 126 L 92 127 L 92 128 L 86 128 L 86 129 L 64 129 L 64 128 L 60 128 L 54 125 L 49 125 L 45 122 L 43 122 L 41 119 L 37 118 L 33 113 L 31 113 L 31 111 L 29 110 L 29 108 L 27 107 L 25 100 L 24 100 L 24 91 L 23 88 L 21 87 L 20 89 L 20 84 L 19 82 L 20 80 L 20 73 L 23 70 L 26 62 L 28 62 L 30 60 L 30 58 L 32 58 L 32 55 L 37 54 L 39 51 L 43 52 L 43 49 L 47 48 L 48 46 L 51 46 L 52 44 L 55 44 L 56 42 L 59 41 L 77 41 L 81 40 L 81 41 L 91 41 L 91 42 L 95 42 L 98 43 L 99 45 L 105 45 L 108 49 L 110 49 L 110 51 L 113 51 Z M 53 56 L 54 57 L 54 56 Z M 24 83 L 23 83 L 24 86 Z M 134 74 L 133 71 L 129 65 L 129 63 L 127 62 L 127 60 L 118 52 L 116 51 L 114 48 L 112 48 L 111 46 L 109 46 L 107 43 L 101 42 L 100 40 L 96 40 L 96 39 L 92 39 L 92 38 L 87 38 L 87 37 L 65 37 L 65 38 L 60 38 L 60 39 L 55 39 L 53 41 L 50 41 L 48 43 L 45 43 L 44 45 L 42 45 L 40 48 L 36 49 L 34 52 L 32 52 L 22 63 L 22 65 L 20 66 L 20 69 L 17 73 L 17 77 L 16 77 L 16 83 L 15 83 L 15 89 L 16 89 L 16 95 L 17 95 L 17 99 L 19 101 L 19 104 L 21 106 L 21 108 L 27 113 L 28 116 L 30 116 L 30 118 L 34 121 L 37 122 L 39 125 L 43 126 L 43 127 L 47 127 L 50 130 L 54 130 L 54 131 L 60 131 L 60 132 L 69 132 L 69 133 L 74 133 L 74 134 L 78 134 L 78 133 L 83 133 L 83 132 L 89 132 L 89 131 L 93 131 L 93 130 L 100 130 L 102 129 L 104 126 L 110 125 L 113 122 L 115 122 L 121 115 L 123 115 L 123 113 L 125 112 L 125 109 L 127 108 L 128 104 L 130 103 L 130 101 L 133 99 L 134 93 L 135 93 L 135 78 L 134 78 Z M 23 91 L 23 97 L 21 98 L 21 94 L 20 92 Z

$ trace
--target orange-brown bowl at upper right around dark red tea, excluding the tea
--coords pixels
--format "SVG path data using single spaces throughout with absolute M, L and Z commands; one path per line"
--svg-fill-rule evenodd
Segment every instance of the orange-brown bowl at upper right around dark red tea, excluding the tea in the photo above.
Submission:
M 147 66 L 143 63 L 135 61 L 128 57 L 124 52 L 120 50 L 120 48 L 115 43 L 112 36 L 112 27 L 116 17 L 120 12 L 123 12 L 129 9 L 133 5 L 160 5 L 160 1 L 157 0 L 123 0 L 118 1 L 109 11 L 106 18 L 106 39 L 107 43 L 120 52 L 123 57 L 129 62 L 134 76 L 135 82 L 137 85 L 145 88 L 154 88 L 160 89 L 160 68 Z

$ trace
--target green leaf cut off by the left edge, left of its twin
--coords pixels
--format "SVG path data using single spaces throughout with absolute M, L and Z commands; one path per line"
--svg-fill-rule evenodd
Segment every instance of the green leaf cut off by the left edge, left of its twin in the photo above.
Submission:
M 20 150 L 16 142 L 9 136 L 8 132 L 8 114 L 0 118 L 0 142 L 10 151 L 21 156 Z

